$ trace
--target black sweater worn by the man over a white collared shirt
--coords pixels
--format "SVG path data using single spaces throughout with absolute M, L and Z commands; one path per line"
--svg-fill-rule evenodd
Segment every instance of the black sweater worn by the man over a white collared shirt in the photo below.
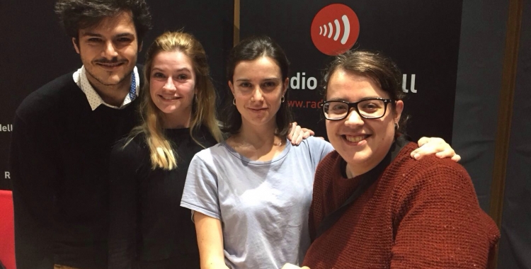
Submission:
M 10 156 L 18 269 L 107 267 L 108 161 L 137 124 L 137 99 L 92 110 L 70 73 L 18 107 Z

